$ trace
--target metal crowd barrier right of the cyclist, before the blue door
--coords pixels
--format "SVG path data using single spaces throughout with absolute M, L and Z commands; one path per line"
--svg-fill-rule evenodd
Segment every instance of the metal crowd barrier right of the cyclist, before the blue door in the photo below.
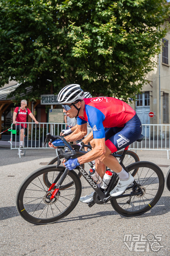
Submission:
M 135 141 L 129 147 L 132 150 L 161 150 L 167 152 L 169 159 L 170 151 L 170 125 L 169 124 L 142 124 L 144 139 Z

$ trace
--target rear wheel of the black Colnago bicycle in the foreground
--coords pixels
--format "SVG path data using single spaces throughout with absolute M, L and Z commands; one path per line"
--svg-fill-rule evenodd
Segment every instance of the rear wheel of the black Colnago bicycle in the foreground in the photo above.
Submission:
M 124 216 L 138 216 L 149 211 L 158 202 L 164 190 L 164 175 L 156 164 L 142 161 L 127 166 L 127 170 L 131 172 L 136 168 L 138 172 L 135 181 L 143 194 L 117 199 L 113 197 L 110 201 L 115 211 Z M 132 184 L 130 186 L 132 187 Z M 138 192 L 137 187 L 133 186 L 127 188 L 123 195 Z

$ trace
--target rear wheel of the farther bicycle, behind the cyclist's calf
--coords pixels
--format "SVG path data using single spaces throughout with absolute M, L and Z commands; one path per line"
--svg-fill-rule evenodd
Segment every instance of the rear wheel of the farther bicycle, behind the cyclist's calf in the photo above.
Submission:
M 118 153 L 119 155 L 122 155 L 123 151 L 119 151 L 119 152 L 117 152 L 117 153 Z M 130 156 L 130 158 L 128 158 L 128 156 Z M 130 165 L 130 164 L 132 164 L 132 163 L 139 162 L 139 161 L 140 161 L 140 160 L 139 160 L 138 155 L 137 155 L 135 152 L 128 150 L 128 151 L 126 152 L 125 158 L 123 159 L 123 164 L 124 164 L 124 166 L 126 167 L 126 166 L 128 166 L 128 165 Z M 136 168 L 136 169 L 131 173 L 131 175 L 134 177 L 134 176 L 137 174 L 137 171 L 138 171 L 138 168 Z

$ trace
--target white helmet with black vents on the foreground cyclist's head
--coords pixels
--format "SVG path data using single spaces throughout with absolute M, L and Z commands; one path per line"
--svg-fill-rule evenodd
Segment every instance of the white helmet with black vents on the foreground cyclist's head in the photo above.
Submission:
M 58 94 L 58 103 L 69 104 L 84 99 L 84 91 L 79 84 L 69 84 Z

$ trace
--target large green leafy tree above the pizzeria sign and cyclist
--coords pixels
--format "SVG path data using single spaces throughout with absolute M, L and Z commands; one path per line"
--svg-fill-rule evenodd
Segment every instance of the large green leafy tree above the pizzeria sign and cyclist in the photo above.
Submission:
M 17 100 L 79 83 L 127 101 L 155 65 L 168 15 L 165 0 L 1 0 L 0 84 L 19 81 Z

